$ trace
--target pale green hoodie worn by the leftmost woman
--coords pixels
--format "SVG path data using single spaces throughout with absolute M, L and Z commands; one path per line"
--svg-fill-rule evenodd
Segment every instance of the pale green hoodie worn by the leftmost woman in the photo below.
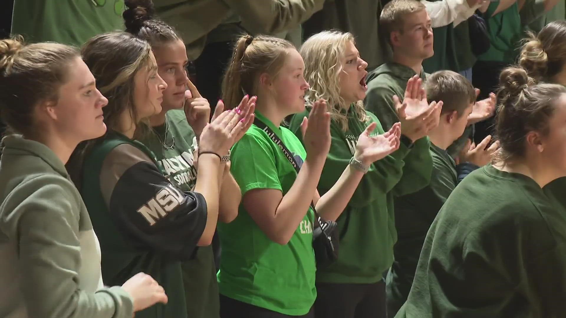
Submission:
M 7 136 L 0 157 L 0 316 L 130 318 L 104 288 L 100 246 L 79 191 L 44 144 Z

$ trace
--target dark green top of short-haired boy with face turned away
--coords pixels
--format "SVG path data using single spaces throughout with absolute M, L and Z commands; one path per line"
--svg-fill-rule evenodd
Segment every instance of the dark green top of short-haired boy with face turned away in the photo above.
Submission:
M 430 153 L 433 162 L 430 184 L 404 196 L 395 205 L 398 241 L 394 248 L 395 261 L 387 277 L 387 310 L 390 313 L 396 313 L 407 300 L 424 238 L 436 214 L 456 184 L 478 168 L 469 162 L 456 165 L 447 151 L 432 143 Z

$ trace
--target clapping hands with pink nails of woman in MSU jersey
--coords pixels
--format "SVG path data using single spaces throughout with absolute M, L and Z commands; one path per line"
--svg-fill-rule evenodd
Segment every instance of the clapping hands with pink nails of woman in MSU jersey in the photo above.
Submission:
M 200 136 L 200 152 L 224 156 L 242 131 L 245 132 L 254 122 L 255 103 L 245 102 L 235 109 L 223 110 L 224 102 L 218 101 L 212 122 L 204 127 Z

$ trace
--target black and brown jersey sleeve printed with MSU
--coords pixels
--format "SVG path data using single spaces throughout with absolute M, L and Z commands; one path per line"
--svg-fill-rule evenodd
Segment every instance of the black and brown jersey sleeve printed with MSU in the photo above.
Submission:
M 100 186 L 110 214 L 132 243 L 179 260 L 192 258 L 207 221 L 201 194 L 178 190 L 131 144 L 106 156 Z

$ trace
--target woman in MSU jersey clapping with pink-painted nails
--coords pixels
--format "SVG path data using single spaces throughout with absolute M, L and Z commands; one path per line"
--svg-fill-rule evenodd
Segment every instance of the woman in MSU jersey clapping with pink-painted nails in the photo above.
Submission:
M 250 109 L 218 112 L 204 127 L 198 166 L 203 178 L 194 192 L 183 192 L 135 140 L 147 130 L 144 121 L 161 112 L 167 87 L 149 43 L 126 32 L 107 33 L 89 40 L 82 53 L 101 92 L 110 97 L 104 108 L 108 134 L 85 146 L 77 178 L 99 232 L 102 273 L 119 282 L 144 270 L 168 291 L 167 306 L 137 318 L 186 317 L 181 261 L 194 257 L 196 246 L 208 245 L 215 233 L 222 156 L 248 124 Z

